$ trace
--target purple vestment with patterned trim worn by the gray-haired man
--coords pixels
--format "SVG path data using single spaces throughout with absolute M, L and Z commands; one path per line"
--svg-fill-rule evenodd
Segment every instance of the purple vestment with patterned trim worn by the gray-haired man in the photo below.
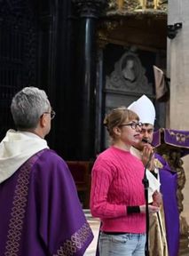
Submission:
M 67 164 L 32 156 L 0 184 L 0 255 L 83 255 L 93 235 Z

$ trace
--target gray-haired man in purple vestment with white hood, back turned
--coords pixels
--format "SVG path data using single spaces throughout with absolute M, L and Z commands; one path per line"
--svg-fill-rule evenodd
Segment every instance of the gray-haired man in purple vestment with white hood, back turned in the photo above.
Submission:
M 83 255 L 93 238 L 67 164 L 47 146 L 55 112 L 43 90 L 12 99 L 17 131 L 0 143 L 1 255 Z

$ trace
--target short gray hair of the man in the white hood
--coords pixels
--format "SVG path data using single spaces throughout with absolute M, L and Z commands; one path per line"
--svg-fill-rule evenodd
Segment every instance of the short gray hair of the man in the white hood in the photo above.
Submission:
M 11 111 L 18 129 L 33 129 L 51 104 L 46 93 L 36 87 L 25 87 L 12 99 Z

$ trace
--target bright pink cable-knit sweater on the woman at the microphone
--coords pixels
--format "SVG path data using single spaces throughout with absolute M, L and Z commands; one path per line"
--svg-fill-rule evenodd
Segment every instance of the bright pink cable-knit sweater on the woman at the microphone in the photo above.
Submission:
M 109 232 L 146 232 L 146 215 L 127 215 L 126 206 L 145 204 L 144 166 L 136 156 L 118 148 L 101 153 L 92 169 L 91 214 Z

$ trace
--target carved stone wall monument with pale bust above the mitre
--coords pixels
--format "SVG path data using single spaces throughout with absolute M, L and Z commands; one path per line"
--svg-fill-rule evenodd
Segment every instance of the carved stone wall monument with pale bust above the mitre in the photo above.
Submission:
M 146 70 L 135 52 L 125 52 L 114 64 L 114 71 L 106 76 L 106 89 L 120 92 L 149 92 L 149 84 L 145 76 Z

